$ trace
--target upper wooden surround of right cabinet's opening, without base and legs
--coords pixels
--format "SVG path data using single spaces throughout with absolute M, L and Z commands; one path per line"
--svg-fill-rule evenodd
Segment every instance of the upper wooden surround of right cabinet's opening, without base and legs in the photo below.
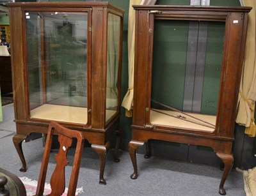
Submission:
M 152 51 L 154 20 L 203 20 L 225 22 L 225 40 L 221 66 L 220 93 L 213 133 L 198 133 L 223 139 L 234 139 L 237 89 L 241 71 L 248 20 L 248 7 L 193 7 L 190 6 L 134 6 L 136 10 L 135 75 L 134 75 L 134 118 L 136 126 L 150 124 L 150 98 L 152 82 Z M 140 12 L 140 13 L 139 13 Z M 145 23 L 147 21 L 147 24 Z M 139 46 L 143 47 L 143 51 Z M 236 51 L 236 49 L 241 49 Z M 143 74 L 142 74 L 143 73 Z M 145 82 L 148 81 L 148 82 Z M 235 91 L 234 91 L 235 89 Z M 195 133 L 182 128 L 156 126 L 160 130 Z M 196 132 L 197 133 L 197 132 Z

